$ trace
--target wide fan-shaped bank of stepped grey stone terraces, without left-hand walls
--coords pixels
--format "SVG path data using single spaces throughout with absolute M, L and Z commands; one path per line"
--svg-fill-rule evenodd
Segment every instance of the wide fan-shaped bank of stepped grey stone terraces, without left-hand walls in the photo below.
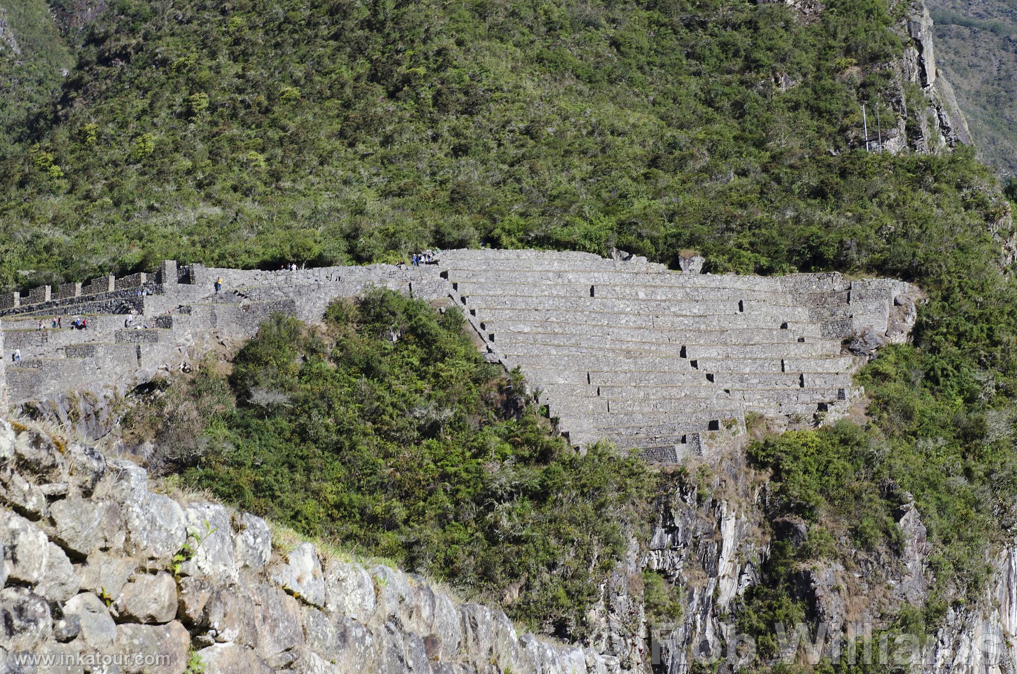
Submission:
M 842 342 L 902 341 L 900 307 L 913 323 L 911 289 L 890 280 L 676 273 L 576 252 L 457 250 L 440 266 L 488 351 L 526 373 L 574 444 L 606 437 L 665 462 L 743 432 L 747 413 L 835 418 L 863 362 Z

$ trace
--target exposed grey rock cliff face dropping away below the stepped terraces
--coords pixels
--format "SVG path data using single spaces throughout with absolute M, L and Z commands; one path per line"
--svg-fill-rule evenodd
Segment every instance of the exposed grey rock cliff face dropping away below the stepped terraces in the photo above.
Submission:
M 643 662 L 634 672 L 689 674 L 704 665 L 722 672 L 759 666 L 754 659 L 762 655 L 759 635 L 738 629 L 745 599 L 754 587 L 775 581 L 767 573 L 773 546 L 779 542 L 796 548 L 812 533 L 804 522 L 771 512 L 765 476 L 755 474 L 740 452 L 704 469 L 679 475 L 658 499 L 649 545 L 627 569 L 630 575 L 653 569 L 680 588 L 680 618 L 648 617 L 641 593 L 613 588 L 613 604 L 627 606 L 627 615 L 640 619 L 633 634 L 644 635 L 638 646 Z M 788 636 L 780 640 L 776 656 L 762 657 L 763 664 L 816 664 L 821 657 L 861 661 L 864 653 L 852 655 L 849 642 L 874 636 L 878 641 L 880 630 L 891 627 L 901 610 L 920 609 L 930 600 L 931 550 L 920 512 L 910 494 L 893 483 L 884 490 L 900 502 L 895 514 L 903 535 L 899 550 L 851 549 L 846 559 L 813 560 L 797 568 L 794 593 L 805 606 L 805 620 L 784 626 Z M 902 640 L 888 639 L 888 661 L 929 674 L 1017 671 L 1017 543 L 986 555 L 986 563 L 994 572 L 979 601 L 951 601 L 945 618 L 924 637 L 912 639 L 905 631 Z M 776 625 L 766 628 L 780 637 Z M 795 629 L 802 631 L 795 634 Z M 633 657 L 636 639 L 614 634 L 611 641 L 623 649 L 622 665 L 638 659 Z M 879 662 L 879 642 L 872 657 Z

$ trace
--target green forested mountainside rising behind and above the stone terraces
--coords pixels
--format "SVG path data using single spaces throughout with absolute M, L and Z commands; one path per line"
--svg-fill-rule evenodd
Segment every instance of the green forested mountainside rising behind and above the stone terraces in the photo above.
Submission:
M 0 287 L 481 242 L 881 269 L 983 173 L 849 149 L 903 3 L 169 4 L 69 35 L 63 112 L 0 147 Z

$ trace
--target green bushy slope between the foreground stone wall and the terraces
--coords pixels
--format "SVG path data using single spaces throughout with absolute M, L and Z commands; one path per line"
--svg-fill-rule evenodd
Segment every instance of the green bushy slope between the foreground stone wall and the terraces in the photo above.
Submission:
M 381 290 L 333 304 L 321 330 L 279 315 L 229 377 L 206 368 L 128 425 L 160 420 L 167 447 L 184 426 L 200 448 L 169 459 L 239 507 L 582 634 L 654 479 L 556 438 L 463 325 Z

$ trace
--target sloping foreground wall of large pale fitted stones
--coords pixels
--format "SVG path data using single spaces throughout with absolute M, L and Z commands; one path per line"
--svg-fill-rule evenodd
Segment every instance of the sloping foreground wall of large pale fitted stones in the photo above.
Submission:
M 172 498 L 128 461 L 2 420 L 0 501 L 4 671 L 41 655 L 60 667 L 39 672 L 617 671 L 420 576 L 280 546 L 259 517 Z

